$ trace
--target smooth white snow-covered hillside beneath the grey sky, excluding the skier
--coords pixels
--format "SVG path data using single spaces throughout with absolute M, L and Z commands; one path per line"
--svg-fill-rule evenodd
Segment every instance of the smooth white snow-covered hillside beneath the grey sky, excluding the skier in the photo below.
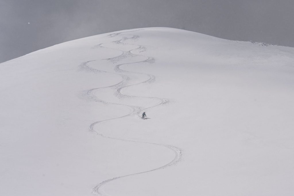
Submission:
M 144 28 L 2 63 L 0 195 L 293 195 L 293 57 Z

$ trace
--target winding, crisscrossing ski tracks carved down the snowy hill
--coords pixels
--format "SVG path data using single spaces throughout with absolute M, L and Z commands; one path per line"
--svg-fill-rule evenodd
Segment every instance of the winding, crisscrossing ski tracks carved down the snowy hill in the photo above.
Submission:
M 126 70 L 123 70 L 121 69 L 121 66 L 122 65 L 125 65 L 125 64 L 136 64 L 136 63 L 153 63 L 154 62 L 154 59 L 153 57 L 146 57 L 146 56 L 143 56 L 143 55 L 139 55 L 139 54 L 133 54 L 132 51 L 138 51 L 139 53 L 141 52 L 145 52 L 147 50 L 147 48 L 145 46 L 142 46 L 142 45 L 137 45 L 137 44 L 127 44 L 127 43 L 124 43 L 123 41 L 126 41 L 128 39 L 139 39 L 140 36 L 138 35 L 132 35 L 132 34 L 123 34 L 123 33 L 127 33 L 127 32 L 134 32 L 134 31 L 140 31 L 141 29 L 136 29 L 136 30 L 130 30 L 130 31 L 124 31 L 124 32 L 121 32 L 121 33 L 114 33 L 114 34 L 109 34 L 108 36 L 109 37 L 116 37 L 116 36 L 123 36 L 122 39 L 119 39 L 119 40 L 116 40 L 116 41 L 112 41 L 112 43 L 114 44 L 119 44 L 119 45 L 133 45 L 133 46 L 136 46 L 136 48 L 134 49 L 131 49 L 131 50 L 128 50 L 128 51 L 124 51 L 124 50 L 121 50 L 121 49 L 116 49 L 116 50 L 119 50 L 122 52 L 122 54 L 116 56 L 116 57 L 112 57 L 112 58 L 109 58 L 107 59 L 108 61 L 111 61 L 113 63 L 117 63 L 119 60 L 121 59 L 125 59 L 125 58 L 131 58 L 131 57 L 143 57 L 145 58 L 145 60 L 141 60 L 141 61 L 136 61 L 136 62 L 128 62 L 128 63 L 123 63 L 123 64 L 118 64 L 115 66 L 115 73 L 113 72 L 106 72 L 106 71 L 103 71 L 103 70 L 98 70 L 98 69 L 94 69 L 92 67 L 90 67 L 88 65 L 89 62 L 93 62 L 93 61 L 96 61 L 96 60 L 92 60 L 92 61 L 88 61 L 88 62 L 84 62 L 80 65 L 80 68 L 82 70 L 85 70 L 85 71 L 88 71 L 88 72 L 93 72 L 93 73 L 111 73 L 111 74 L 118 74 L 122 77 L 122 80 L 121 82 L 118 82 L 117 84 L 114 84 L 114 85 L 111 85 L 111 86 L 107 86 L 107 87 L 100 87 L 100 88 L 95 88 L 95 89 L 90 89 L 88 90 L 88 92 L 85 93 L 85 96 L 92 100 L 92 101 L 95 101 L 95 102 L 102 102 L 104 104 L 113 104 L 113 105 L 123 105 L 123 106 L 127 106 L 129 107 L 132 112 L 129 113 L 129 114 L 126 114 L 124 116 L 121 116 L 121 117 L 116 117 L 116 118 L 112 118 L 112 119 L 106 119 L 106 120 L 101 120 L 101 121 L 97 121 L 97 122 L 94 122 L 92 123 L 90 126 L 89 126 L 89 131 L 91 132 L 95 132 L 96 134 L 102 136 L 102 137 L 106 137 L 106 138 L 109 138 L 109 139 L 116 139 L 116 140 L 121 140 L 121 141 L 126 141 L 126 142 L 137 142 L 137 143 L 145 143 L 145 144 L 153 144 L 153 145 L 159 145 L 159 146 L 162 146 L 162 147 L 166 147 L 170 150 L 172 150 L 174 153 L 175 153 L 175 158 L 169 162 L 168 164 L 166 165 L 163 165 L 161 167 L 158 167 L 156 169 L 153 169 L 153 170 L 148 170 L 148 171 L 143 171 L 143 172 L 138 172 L 138 173 L 133 173 L 133 174 L 129 174 L 129 175 L 124 175 L 124 176 L 119 176 L 119 177 L 114 177 L 114 178 L 111 178 L 111 179 L 108 179 L 108 180 L 105 180 L 101 183 L 99 183 L 98 185 L 96 185 L 93 190 L 92 190 L 92 193 L 93 194 L 97 194 L 97 195 L 100 195 L 100 196 L 106 196 L 109 194 L 107 194 L 106 192 L 104 192 L 103 190 L 103 187 L 108 183 L 108 182 L 111 182 L 113 180 L 116 180 L 116 179 L 120 179 L 120 178 L 123 178 L 123 177 L 127 177 L 127 176 L 132 176 L 132 175 L 138 175 L 138 174 L 143 174 L 143 173 L 147 173 L 147 172 L 152 172 L 152 171 L 155 171 L 155 170 L 160 170 L 160 169 L 164 169 L 168 166 L 171 166 L 171 165 L 175 165 L 177 162 L 179 162 L 181 160 L 181 155 L 182 155 L 182 151 L 181 149 L 179 149 L 178 147 L 175 147 L 175 146 L 171 146 L 171 145 L 166 145 L 166 144 L 158 144 L 158 143 L 152 143 L 152 142 L 142 142 L 142 141 L 134 141 L 134 140 L 128 140 L 128 139 L 121 139 L 121 138 L 115 138 L 115 137 L 109 137 L 107 135 L 104 135 L 102 133 L 99 133 L 98 131 L 95 130 L 95 126 L 98 125 L 99 123 L 101 122 L 105 122 L 105 121 L 110 121 L 110 120 L 115 120 L 115 119 L 119 119 L 119 118 L 123 118 L 123 117 L 127 117 L 127 116 L 131 116 L 131 115 L 137 115 L 139 116 L 140 113 L 143 111 L 143 110 L 148 110 L 148 109 L 151 109 L 153 107 L 156 107 L 156 106 L 160 106 L 160 105 L 164 105 L 164 104 L 167 104 L 169 101 L 168 99 L 162 99 L 162 98 L 158 98 L 158 97 L 139 97 L 139 96 L 131 96 L 131 95 L 127 95 L 127 94 L 122 94 L 121 93 L 121 90 L 123 88 L 126 88 L 126 87 L 130 87 L 130 86 L 133 86 L 133 85 L 138 85 L 138 84 L 144 84 L 144 83 L 152 83 L 155 81 L 156 77 L 151 75 L 151 74 L 146 74 L 146 73 L 140 73 L 140 72 L 129 72 L 129 71 L 126 71 Z M 109 42 L 107 42 L 109 43 Z M 98 44 L 96 46 L 93 46 L 92 48 L 95 49 L 95 48 L 107 48 L 107 49 L 114 49 L 114 48 L 110 48 L 110 47 L 105 47 L 103 46 L 103 44 L 107 44 L 107 43 L 102 43 L 102 44 Z M 146 81 L 143 81 L 143 82 L 139 82 L 139 83 L 135 83 L 135 84 L 130 84 L 130 85 L 126 85 L 126 82 L 130 81 L 130 78 L 126 75 L 123 75 L 121 73 L 132 73 L 132 74 L 137 74 L 137 75 L 147 75 L 149 77 L 149 79 L 147 79 Z M 101 100 L 99 99 L 96 95 L 95 95 L 95 92 L 98 91 L 99 89 L 103 89 L 103 88 L 112 88 L 112 89 L 116 89 L 116 93 L 114 94 L 116 97 L 118 98 L 149 98 L 149 99 L 156 99 L 158 100 L 158 104 L 156 105 L 153 105 L 153 106 L 150 106 L 150 107 L 147 107 L 147 108 L 140 108 L 140 107 L 137 107 L 137 106 L 132 106 L 132 105 L 126 105 L 126 104 L 118 104 L 118 103 L 112 103 L 112 102 L 107 102 L 105 100 Z

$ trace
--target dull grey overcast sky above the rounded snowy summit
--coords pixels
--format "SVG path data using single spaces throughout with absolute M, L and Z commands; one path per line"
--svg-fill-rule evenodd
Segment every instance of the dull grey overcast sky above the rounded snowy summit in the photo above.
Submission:
M 294 0 L 0 0 L 0 62 L 64 41 L 154 26 L 294 47 Z

